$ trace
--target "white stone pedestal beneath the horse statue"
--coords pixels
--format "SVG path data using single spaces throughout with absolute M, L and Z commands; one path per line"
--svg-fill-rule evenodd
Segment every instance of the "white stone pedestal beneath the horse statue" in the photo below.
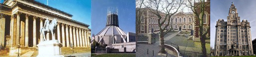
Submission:
M 40 42 L 37 57 L 62 57 L 60 51 L 60 43 L 57 40 Z

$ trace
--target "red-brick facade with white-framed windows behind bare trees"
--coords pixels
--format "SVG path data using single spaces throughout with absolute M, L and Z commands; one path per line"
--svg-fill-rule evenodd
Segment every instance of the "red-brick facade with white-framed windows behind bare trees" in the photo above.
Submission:
M 150 33 L 153 31 L 154 33 L 158 33 L 160 31 L 160 27 L 158 24 L 158 17 L 153 14 L 150 9 L 152 8 L 141 8 L 143 10 L 143 14 L 141 16 L 141 31 L 140 33 Z M 154 10 L 154 9 L 152 9 Z M 161 16 L 165 16 L 166 14 L 161 12 Z M 164 21 L 164 18 L 160 20 L 160 23 Z M 191 31 L 193 29 L 193 13 L 190 12 L 178 12 L 171 17 L 169 26 L 166 30 L 174 30 L 174 31 Z M 166 21 L 163 24 L 163 28 L 168 24 Z

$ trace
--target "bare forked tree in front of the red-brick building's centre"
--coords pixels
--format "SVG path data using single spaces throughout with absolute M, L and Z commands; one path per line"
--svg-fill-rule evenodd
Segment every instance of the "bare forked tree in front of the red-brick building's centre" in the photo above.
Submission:
M 149 9 L 153 16 L 158 18 L 161 42 L 161 51 L 159 53 L 166 54 L 164 36 L 171 31 L 166 29 L 170 25 L 171 16 L 181 9 L 183 2 L 184 0 L 145 0 L 145 2 L 142 3 Z M 164 25 L 165 22 L 167 22 L 166 25 Z

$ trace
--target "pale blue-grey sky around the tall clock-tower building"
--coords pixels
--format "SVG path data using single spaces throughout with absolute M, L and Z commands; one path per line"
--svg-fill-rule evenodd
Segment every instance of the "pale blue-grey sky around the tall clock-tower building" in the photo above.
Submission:
M 246 19 L 251 25 L 252 40 L 256 39 L 256 0 L 211 0 L 211 47 L 214 48 L 215 26 L 218 19 L 227 21 L 231 2 L 234 2 L 240 21 Z

